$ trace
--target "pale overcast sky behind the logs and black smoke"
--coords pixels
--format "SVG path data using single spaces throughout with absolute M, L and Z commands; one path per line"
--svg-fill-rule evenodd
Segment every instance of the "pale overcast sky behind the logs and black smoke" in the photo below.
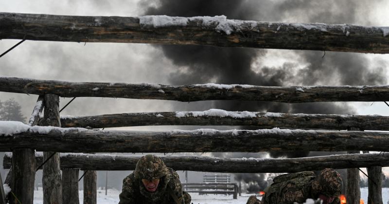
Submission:
M 220 2 L 221 8 L 228 6 L 224 5 L 222 0 L 218 2 Z M 389 1 L 387 0 L 243 0 L 242 2 L 240 10 L 238 9 L 239 12 L 232 12 L 230 15 L 227 13 L 222 14 L 227 17 L 242 17 L 261 21 L 309 23 L 314 20 L 312 23 L 352 23 L 365 26 L 389 26 Z M 158 10 L 158 8 L 163 8 L 168 3 L 171 3 L 171 1 L 143 0 L 140 3 L 139 0 L 1 0 L 0 12 L 136 17 L 146 13 L 165 14 L 163 9 Z M 150 9 L 152 7 L 156 7 L 157 12 Z M 194 7 L 195 9 L 198 8 Z M 190 11 L 189 7 L 188 12 Z M 180 14 L 180 8 L 177 8 L 177 12 L 169 12 Z M 217 13 L 217 15 L 222 14 Z M 18 41 L 1 40 L 0 52 L 12 47 Z M 252 51 L 248 52 L 251 53 Z M 262 73 L 264 70 L 272 70 L 272 68 L 281 70 L 286 67 L 293 70 L 293 73 L 300 71 L 297 73 L 302 73 L 304 76 L 307 75 L 307 73 L 303 72 L 304 70 L 306 72 L 312 71 L 312 74 L 317 72 L 316 76 L 331 74 L 331 72 L 333 72 L 332 74 L 335 73 L 334 76 L 318 78 L 317 81 L 309 82 L 308 85 L 366 85 L 345 84 L 357 81 L 388 83 L 388 54 L 327 52 L 326 57 L 322 59 L 322 52 L 319 51 L 258 49 L 256 52 L 258 53 L 253 55 L 255 58 L 252 59 L 250 69 L 257 74 Z M 84 43 L 73 42 L 25 41 L 15 50 L 0 58 L 0 76 L 72 82 L 178 85 L 176 84 L 179 82 L 177 72 L 185 72 L 187 68 L 191 68 L 191 64 L 182 64 L 182 62 L 178 62 L 177 58 L 170 56 L 168 53 L 166 49 L 148 44 L 86 43 L 84 45 Z M 347 63 L 342 63 L 342 57 L 344 57 Z M 312 59 L 315 59 L 315 63 L 312 62 Z M 317 62 L 318 60 L 320 61 Z M 329 70 L 312 68 L 316 65 L 320 65 L 321 69 L 329 68 Z M 336 66 L 338 67 L 332 69 Z M 355 69 L 353 69 L 354 67 Z M 347 71 L 342 72 L 345 69 Z M 219 71 L 222 72 L 222 70 Z M 236 72 L 239 72 L 239 69 L 236 69 Z M 382 79 L 374 81 L 374 73 L 377 73 Z M 366 77 L 366 75 L 371 76 L 373 79 L 359 79 L 360 77 Z M 184 78 L 188 74 L 183 74 L 182 76 Z M 194 76 L 197 75 L 194 74 Z M 353 79 L 353 76 L 355 76 L 355 79 Z M 347 80 L 344 80 L 342 77 L 347 77 Z M 217 77 L 206 80 L 191 77 L 191 82 L 195 84 L 216 83 L 218 80 Z M 305 82 L 304 80 L 296 81 L 290 79 L 283 82 L 283 85 L 304 85 Z M 22 111 L 25 116 L 31 114 L 37 96 L 0 92 L 0 101 L 11 97 L 15 98 L 22 105 Z M 68 101 L 70 99 L 61 98 L 60 105 L 63 106 Z M 191 102 L 188 104 L 157 100 L 77 98 L 61 114 L 84 116 L 125 112 L 221 108 L 217 105 L 218 103 L 214 102 Z M 337 104 L 338 107 L 343 105 L 349 107 L 345 110 L 350 110 L 350 113 L 389 116 L 389 107 L 383 102 L 374 102 L 372 105 L 371 102 Z M 263 109 L 260 110 L 265 111 Z M 135 127 L 125 129 L 164 130 L 170 128 L 176 127 Z M 193 129 L 195 127 L 187 128 Z

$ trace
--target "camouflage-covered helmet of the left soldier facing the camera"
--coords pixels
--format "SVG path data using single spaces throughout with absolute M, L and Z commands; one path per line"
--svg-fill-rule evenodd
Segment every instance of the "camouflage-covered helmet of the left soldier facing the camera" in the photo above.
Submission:
M 167 167 L 161 158 L 147 154 L 138 160 L 134 174 L 139 179 L 153 180 L 166 176 L 167 171 Z

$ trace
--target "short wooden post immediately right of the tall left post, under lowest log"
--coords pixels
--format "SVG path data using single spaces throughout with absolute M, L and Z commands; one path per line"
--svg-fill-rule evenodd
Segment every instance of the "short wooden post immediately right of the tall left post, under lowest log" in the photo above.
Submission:
M 78 199 L 78 169 L 62 170 L 62 203 L 79 204 Z

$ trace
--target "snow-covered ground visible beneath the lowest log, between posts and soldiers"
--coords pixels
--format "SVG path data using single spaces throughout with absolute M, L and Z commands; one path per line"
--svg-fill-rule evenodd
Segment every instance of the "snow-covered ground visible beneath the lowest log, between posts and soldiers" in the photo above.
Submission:
M 97 191 L 97 203 L 98 204 L 118 204 L 119 203 L 119 190 L 108 189 L 107 195 L 105 190 Z M 237 200 L 232 199 L 232 195 L 198 195 L 192 193 L 192 203 L 194 204 L 246 204 L 248 197 L 251 194 L 242 194 L 238 196 Z M 80 203 L 82 203 L 83 191 L 79 192 Z M 361 188 L 361 198 L 367 203 L 368 188 Z M 35 191 L 34 204 L 43 204 L 42 191 Z M 384 204 L 389 204 L 389 188 L 382 189 L 382 200 Z

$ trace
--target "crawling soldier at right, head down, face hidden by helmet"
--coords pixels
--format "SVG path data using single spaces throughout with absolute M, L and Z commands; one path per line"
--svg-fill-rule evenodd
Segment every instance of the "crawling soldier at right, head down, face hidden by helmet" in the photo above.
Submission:
M 321 199 L 322 204 L 340 204 L 342 178 L 333 169 L 322 170 L 319 175 L 313 171 L 283 174 L 273 182 L 265 189 L 262 201 L 250 196 L 247 204 L 302 204 L 308 198 Z

